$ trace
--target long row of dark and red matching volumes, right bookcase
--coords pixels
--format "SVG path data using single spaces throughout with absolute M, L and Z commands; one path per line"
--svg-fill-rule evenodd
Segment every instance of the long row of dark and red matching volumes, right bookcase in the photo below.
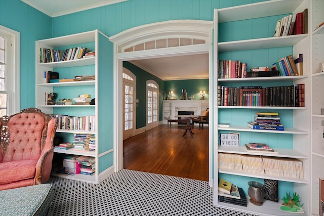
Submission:
M 225 87 L 218 85 L 218 106 L 305 106 L 305 84 L 281 87 Z

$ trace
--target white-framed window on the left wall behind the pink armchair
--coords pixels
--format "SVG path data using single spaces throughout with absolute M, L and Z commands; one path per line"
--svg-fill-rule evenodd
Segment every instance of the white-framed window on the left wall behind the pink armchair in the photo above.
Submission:
M 19 109 L 19 32 L 0 25 L 0 116 Z

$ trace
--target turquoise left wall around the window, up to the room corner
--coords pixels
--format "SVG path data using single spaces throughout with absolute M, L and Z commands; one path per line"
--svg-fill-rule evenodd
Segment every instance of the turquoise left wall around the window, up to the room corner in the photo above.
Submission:
M 35 106 L 35 41 L 52 37 L 52 18 L 19 0 L 0 0 L 0 25 L 20 32 L 20 109 Z

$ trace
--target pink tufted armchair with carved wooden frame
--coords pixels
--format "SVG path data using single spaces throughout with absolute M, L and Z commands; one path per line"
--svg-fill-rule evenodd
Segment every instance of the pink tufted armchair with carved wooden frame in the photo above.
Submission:
M 46 183 L 57 118 L 37 108 L 0 118 L 0 190 Z

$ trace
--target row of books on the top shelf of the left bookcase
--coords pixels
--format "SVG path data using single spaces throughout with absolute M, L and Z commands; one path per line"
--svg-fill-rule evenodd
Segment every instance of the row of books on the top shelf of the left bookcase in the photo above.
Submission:
M 41 63 L 81 59 L 88 52 L 91 51 L 88 48 L 83 47 L 69 48 L 63 52 L 55 49 L 41 48 Z

